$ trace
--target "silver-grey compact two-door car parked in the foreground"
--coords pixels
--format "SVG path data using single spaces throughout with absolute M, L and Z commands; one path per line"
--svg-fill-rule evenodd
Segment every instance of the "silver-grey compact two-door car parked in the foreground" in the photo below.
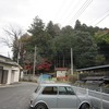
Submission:
M 31 97 L 34 109 L 92 109 L 89 97 L 77 95 L 70 84 L 39 84 Z

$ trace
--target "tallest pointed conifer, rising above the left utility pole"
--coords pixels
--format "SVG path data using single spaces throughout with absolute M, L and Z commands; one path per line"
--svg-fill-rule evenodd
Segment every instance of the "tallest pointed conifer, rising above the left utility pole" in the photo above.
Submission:
M 49 23 L 49 26 L 52 26 L 51 22 Z M 31 46 L 34 47 L 36 45 L 38 55 L 40 55 L 43 58 L 50 59 L 50 53 L 52 52 L 51 41 L 53 36 L 51 36 L 52 32 L 50 31 L 49 26 L 46 28 L 43 21 L 39 17 L 35 17 L 28 32 L 32 34 Z

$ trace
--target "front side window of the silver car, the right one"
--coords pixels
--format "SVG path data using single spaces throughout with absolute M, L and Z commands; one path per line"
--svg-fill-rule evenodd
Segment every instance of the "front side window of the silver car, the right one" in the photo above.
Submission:
M 68 86 L 59 87 L 59 95 L 75 95 L 73 89 Z

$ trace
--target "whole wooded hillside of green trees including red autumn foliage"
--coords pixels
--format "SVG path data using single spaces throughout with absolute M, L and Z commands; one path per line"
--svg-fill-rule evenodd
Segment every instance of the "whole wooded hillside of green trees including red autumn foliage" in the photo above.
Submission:
M 71 48 L 75 69 L 109 63 L 109 29 L 87 26 L 77 20 L 74 28 L 60 27 L 50 21 L 47 25 L 36 16 L 20 40 L 20 63 L 32 71 L 36 46 L 36 72 L 71 66 Z M 13 49 L 13 59 L 16 60 Z

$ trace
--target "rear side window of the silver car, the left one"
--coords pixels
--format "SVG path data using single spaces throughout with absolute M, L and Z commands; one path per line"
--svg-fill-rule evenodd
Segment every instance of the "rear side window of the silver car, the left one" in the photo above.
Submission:
M 56 86 L 47 86 L 43 90 L 44 95 L 57 95 L 57 87 Z

